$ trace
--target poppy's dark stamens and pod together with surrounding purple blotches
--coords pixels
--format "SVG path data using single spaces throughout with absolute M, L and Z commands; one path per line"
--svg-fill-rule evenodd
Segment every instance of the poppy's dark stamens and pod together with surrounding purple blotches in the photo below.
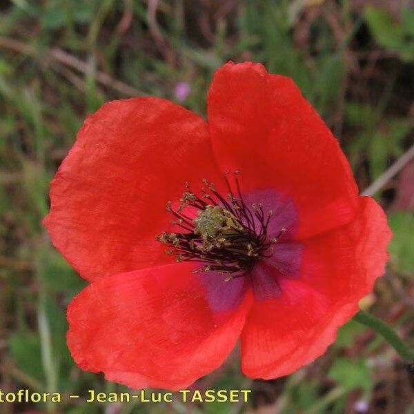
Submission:
M 180 202 L 166 204 L 175 230 L 157 236 L 177 262 L 199 263 L 214 311 L 235 308 L 248 289 L 257 301 L 280 297 L 282 279 L 298 277 L 302 263 L 293 200 L 271 188 L 242 192 L 239 174 L 224 175 L 224 194 L 207 179 L 198 192 L 186 184 Z

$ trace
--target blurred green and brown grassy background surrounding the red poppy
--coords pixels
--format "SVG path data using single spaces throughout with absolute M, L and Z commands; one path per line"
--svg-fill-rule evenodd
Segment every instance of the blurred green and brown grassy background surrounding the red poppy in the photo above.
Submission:
M 221 63 L 254 60 L 293 77 L 332 128 L 363 190 L 414 137 L 414 8 L 364 0 L 0 1 L 0 389 L 60 391 L 62 404 L 1 413 L 414 413 L 414 374 L 350 322 L 328 353 L 289 377 L 250 381 L 237 351 L 199 388 L 251 388 L 248 404 L 101 404 L 120 391 L 80 371 L 66 306 L 84 283 L 41 226 L 48 186 L 83 119 L 110 99 L 156 95 L 205 115 Z M 369 308 L 414 346 L 414 164 L 375 197 L 394 231 Z

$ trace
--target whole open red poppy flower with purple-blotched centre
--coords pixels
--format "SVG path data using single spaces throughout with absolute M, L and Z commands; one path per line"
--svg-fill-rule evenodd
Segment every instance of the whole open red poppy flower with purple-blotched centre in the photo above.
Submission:
M 52 242 L 91 282 L 68 308 L 70 351 L 133 388 L 188 386 L 239 337 L 249 377 L 308 364 L 391 238 L 293 81 L 254 63 L 217 70 L 208 123 L 164 99 L 106 103 L 50 198 Z

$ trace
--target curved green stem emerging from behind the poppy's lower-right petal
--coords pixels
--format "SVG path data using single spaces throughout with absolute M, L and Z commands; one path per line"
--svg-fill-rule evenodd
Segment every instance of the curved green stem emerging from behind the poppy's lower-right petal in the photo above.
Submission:
M 408 348 L 402 339 L 395 333 L 393 328 L 383 322 L 381 319 L 371 315 L 366 311 L 359 310 L 359 312 L 353 317 L 353 319 L 359 324 L 363 324 L 372 328 L 379 333 L 390 344 L 398 355 L 406 361 L 414 361 L 414 349 Z

